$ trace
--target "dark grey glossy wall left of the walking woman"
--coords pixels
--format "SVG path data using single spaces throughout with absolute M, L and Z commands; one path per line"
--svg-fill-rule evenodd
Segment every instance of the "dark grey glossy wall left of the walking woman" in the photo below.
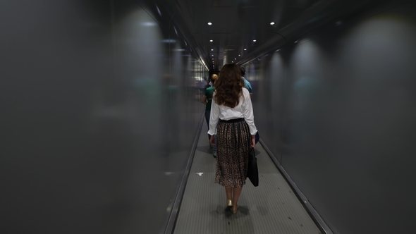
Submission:
M 159 233 L 207 70 L 153 1 L 0 2 L 0 233 Z

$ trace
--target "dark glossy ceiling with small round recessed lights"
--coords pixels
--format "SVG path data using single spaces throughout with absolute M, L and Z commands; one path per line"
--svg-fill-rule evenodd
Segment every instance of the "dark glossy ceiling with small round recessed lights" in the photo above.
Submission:
M 369 2 L 372 0 L 176 0 L 175 6 L 201 61 L 209 70 L 219 70 L 224 63 L 247 63 L 279 49 Z

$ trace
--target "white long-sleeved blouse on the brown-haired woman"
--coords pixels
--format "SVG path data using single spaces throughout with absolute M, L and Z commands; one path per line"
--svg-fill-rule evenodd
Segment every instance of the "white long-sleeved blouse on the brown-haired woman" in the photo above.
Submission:
M 244 118 L 250 128 L 250 134 L 256 135 L 257 128 L 255 126 L 255 116 L 253 114 L 250 93 L 245 87 L 242 90 L 243 95 L 240 96 L 240 101 L 234 108 L 216 104 L 214 101 L 214 92 L 212 95 L 211 115 L 209 116 L 209 135 L 216 134 L 216 125 L 218 125 L 220 119 L 229 121 L 234 118 Z

